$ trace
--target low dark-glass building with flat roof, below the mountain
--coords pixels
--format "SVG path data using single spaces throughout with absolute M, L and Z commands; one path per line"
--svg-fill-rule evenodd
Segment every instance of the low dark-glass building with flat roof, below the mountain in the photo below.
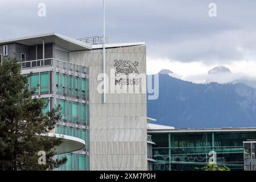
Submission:
M 231 170 L 243 170 L 243 142 L 256 138 L 256 128 L 163 129 L 150 126 L 155 145 L 153 170 L 198 170 L 212 161 Z

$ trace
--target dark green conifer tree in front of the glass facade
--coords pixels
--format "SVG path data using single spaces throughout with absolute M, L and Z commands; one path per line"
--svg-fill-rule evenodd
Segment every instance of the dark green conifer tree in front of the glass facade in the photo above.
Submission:
M 51 170 L 67 162 L 54 160 L 62 139 L 43 137 L 61 118 L 60 107 L 44 114 L 47 104 L 32 98 L 27 77 L 21 75 L 15 58 L 0 64 L 0 170 Z M 46 152 L 46 164 L 38 164 L 39 151 Z

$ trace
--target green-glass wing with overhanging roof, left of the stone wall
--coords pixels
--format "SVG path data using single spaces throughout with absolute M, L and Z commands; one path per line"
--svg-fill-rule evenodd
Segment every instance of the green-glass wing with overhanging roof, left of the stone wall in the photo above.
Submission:
M 60 105 L 61 119 L 55 133 L 69 135 L 85 141 L 79 151 L 56 155 L 67 156 L 67 163 L 56 170 L 89 170 L 89 68 L 69 61 L 71 51 L 86 49 L 75 40 L 56 35 L 7 42 L 5 57 L 16 57 L 33 98 L 43 99 L 44 113 Z M 71 151 L 71 150 L 67 150 Z

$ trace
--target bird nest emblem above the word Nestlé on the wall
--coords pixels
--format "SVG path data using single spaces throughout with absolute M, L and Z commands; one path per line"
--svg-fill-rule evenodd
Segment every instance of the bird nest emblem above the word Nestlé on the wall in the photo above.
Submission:
M 130 73 L 137 73 L 139 74 L 136 67 L 138 67 L 139 63 L 138 61 L 134 61 L 132 63 L 131 61 L 124 61 L 124 60 L 114 60 L 115 64 L 115 76 L 121 76 L 121 75 L 129 75 Z

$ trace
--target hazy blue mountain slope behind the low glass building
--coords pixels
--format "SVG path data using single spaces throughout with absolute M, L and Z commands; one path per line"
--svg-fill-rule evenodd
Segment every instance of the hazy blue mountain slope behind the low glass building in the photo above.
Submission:
M 256 126 L 256 89 L 242 83 L 194 84 L 159 74 L 159 98 L 147 101 L 148 117 L 176 128 Z

